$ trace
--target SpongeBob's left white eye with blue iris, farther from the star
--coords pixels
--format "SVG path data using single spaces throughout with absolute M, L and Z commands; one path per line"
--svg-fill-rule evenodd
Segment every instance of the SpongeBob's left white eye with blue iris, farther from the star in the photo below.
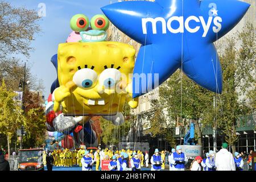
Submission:
M 89 68 L 80 69 L 73 76 L 73 82 L 81 88 L 93 88 L 97 84 L 97 73 Z

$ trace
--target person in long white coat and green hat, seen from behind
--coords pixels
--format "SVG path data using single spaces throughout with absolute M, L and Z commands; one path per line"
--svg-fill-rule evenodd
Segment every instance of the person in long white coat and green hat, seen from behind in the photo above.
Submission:
M 215 165 L 217 171 L 236 171 L 233 155 L 227 148 L 228 143 L 223 143 L 221 150 L 216 154 Z

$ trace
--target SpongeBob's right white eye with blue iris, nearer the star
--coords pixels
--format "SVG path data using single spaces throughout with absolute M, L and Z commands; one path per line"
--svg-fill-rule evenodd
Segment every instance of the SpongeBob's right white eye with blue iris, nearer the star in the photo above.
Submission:
M 113 89 L 120 79 L 121 72 L 114 68 L 105 69 L 98 78 L 100 85 L 104 85 L 106 89 Z

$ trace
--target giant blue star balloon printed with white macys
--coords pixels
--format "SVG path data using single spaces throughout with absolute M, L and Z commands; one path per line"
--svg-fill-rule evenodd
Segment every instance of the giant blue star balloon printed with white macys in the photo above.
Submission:
M 114 26 L 142 44 L 133 97 L 162 84 L 178 68 L 197 84 L 221 93 L 222 71 L 213 42 L 236 26 L 249 6 L 236 0 L 155 0 L 102 7 Z

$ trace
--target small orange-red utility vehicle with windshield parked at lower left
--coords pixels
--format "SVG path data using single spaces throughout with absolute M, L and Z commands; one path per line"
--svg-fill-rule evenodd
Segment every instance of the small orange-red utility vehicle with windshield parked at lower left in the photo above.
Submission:
M 19 171 L 44 171 L 43 148 L 19 150 Z

